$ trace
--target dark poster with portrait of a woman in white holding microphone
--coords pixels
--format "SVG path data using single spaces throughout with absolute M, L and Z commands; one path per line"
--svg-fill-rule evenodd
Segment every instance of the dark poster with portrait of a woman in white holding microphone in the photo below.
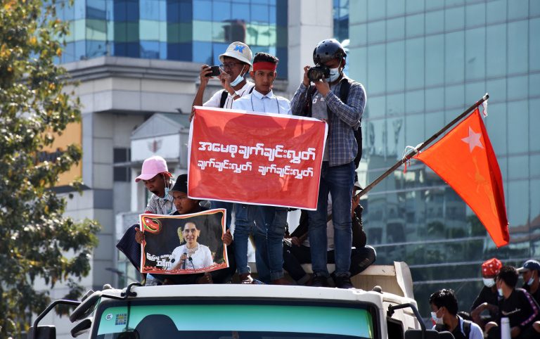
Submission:
M 193 274 L 229 267 L 225 210 L 189 215 L 139 215 L 144 234 L 141 273 Z

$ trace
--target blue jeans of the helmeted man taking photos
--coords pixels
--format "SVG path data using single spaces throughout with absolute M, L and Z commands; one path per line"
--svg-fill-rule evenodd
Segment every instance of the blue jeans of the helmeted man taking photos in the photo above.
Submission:
M 354 186 L 354 162 L 330 167 L 323 162 L 317 210 L 308 211 L 309 245 L 311 246 L 311 269 L 316 276 L 328 276 L 326 263 L 326 218 L 328 193 L 332 197 L 332 222 L 334 225 L 335 276 L 350 276 L 352 246 L 352 188 Z

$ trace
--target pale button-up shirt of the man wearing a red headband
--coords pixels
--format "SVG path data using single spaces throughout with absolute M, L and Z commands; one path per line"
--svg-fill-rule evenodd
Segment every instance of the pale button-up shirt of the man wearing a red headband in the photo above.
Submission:
M 236 110 L 248 110 L 250 112 L 279 113 L 290 115 L 290 101 L 283 96 L 274 95 L 273 91 L 263 95 L 256 89 L 251 94 L 236 99 L 233 103 Z

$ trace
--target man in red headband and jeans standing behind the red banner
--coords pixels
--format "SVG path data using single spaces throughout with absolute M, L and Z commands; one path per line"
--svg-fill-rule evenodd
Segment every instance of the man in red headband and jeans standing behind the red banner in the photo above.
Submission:
M 272 91 L 278 61 L 278 58 L 268 53 L 255 55 L 253 70 L 250 72 L 255 81 L 255 90 L 234 101 L 233 109 L 290 115 L 290 102 L 286 98 L 276 96 Z M 287 209 L 237 204 L 235 212 L 234 243 L 240 280 L 244 283 L 252 281 L 248 266 L 248 236 L 255 230 L 255 247 L 259 253 L 256 262 L 259 277 L 269 276 L 273 284 L 288 284 L 283 276 L 283 234 L 287 223 Z M 264 264 L 260 262 L 261 260 L 264 260 Z M 265 271 L 266 267 L 269 272 Z

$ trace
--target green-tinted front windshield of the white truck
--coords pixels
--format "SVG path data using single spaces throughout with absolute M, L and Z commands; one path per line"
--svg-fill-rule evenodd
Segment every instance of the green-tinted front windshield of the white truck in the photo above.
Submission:
M 93 338 L 309 339 L 374 335 L 371 313 L 356 304 L 119 304 L 110 302 L 99 307 Z

